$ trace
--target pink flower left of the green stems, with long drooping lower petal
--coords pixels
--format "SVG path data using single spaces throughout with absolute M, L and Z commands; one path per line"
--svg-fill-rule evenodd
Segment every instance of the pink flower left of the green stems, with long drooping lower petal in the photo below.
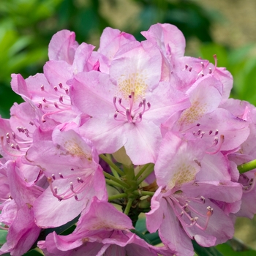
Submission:
M 34 140 L 26 154 L 29 163 L 40 167 L 49 183 L 34 203 L 39 227 L 64 225 L 77 217 L 95 195 L 107 199 L 97 151 L 70 127 L 75 124 L 56 127 L 53 141 Z

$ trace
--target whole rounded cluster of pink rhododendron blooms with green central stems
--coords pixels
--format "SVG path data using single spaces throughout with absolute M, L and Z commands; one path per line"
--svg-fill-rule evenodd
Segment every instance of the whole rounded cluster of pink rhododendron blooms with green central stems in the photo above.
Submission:
M 12 75 L 25 102 L 0 118 L 0 255 L 194 255 L 192 239 L 221 244 L 256 213 L 255 167 L 238 171 L 256 159 L 255 107 L 228 99 L 216 56 L 184 56 L 176 26 L 142 34 L 107 28 L 94 51 L 59 31 L 42 74 Z M 164 246 L 132 231 L 135 211 Z

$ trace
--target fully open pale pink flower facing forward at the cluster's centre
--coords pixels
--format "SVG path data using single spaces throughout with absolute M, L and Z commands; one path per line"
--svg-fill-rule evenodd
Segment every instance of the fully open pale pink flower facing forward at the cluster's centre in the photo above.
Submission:
M 160 124 L 188 105 L 182 94 L 160 81 L 161 69 L 157 46 L 129 42 L 111 61 L 110 75 L 81 72 L 75 76 L 70 91 L 73 105 L 92 117 L 80 132 L 99 154 L 124 146 L 135 165 L 155 162 L 162 139 Z

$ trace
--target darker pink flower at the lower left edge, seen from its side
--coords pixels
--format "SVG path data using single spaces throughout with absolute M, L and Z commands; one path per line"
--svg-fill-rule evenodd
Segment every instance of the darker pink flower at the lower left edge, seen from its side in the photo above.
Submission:
M 6 162 L 10 186 L 10 199 L 1 205 L 0 222 L 7 229 L 7 242 L 1 246 L 0 255 L 11 252 L 11 255 L 23 255 L 37 240 L 40 228 L 34 223 L 34 201 L 42 194 L 43 189 L 28 184 L 15 162 Z

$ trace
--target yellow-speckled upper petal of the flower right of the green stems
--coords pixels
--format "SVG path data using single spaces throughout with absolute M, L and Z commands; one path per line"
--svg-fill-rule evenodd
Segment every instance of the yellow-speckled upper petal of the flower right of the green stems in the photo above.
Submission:
M 193 181 L 200 171 L 202 147 L 200 140 L 185 141 L 172 132 L 167 132 L 155 165 L 157 184 L 172 189 Z

